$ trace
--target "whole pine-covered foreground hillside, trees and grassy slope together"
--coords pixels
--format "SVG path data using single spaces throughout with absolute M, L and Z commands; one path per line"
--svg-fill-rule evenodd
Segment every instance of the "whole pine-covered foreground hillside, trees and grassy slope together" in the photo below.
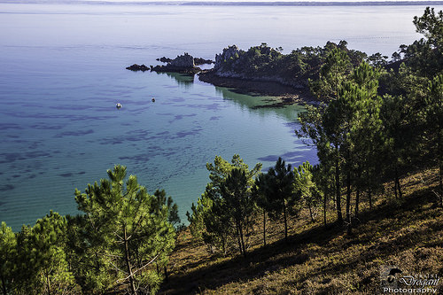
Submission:
M 148 194 L 117 165 L 75 190 L 78 216 L 51 212 L 18 233 L 2 222 L 0 291 L 376 294 L 382 266 L 443 276 L 443 12 L 414 24 L 424 38 L 391 66 L 329 43 L 307 83 L 324 104 L 307 105 L 295 131 L 318 165 L 278 159 L 261 173 L 215 157 L 187 228 L 164 190 Z M 242 56 L 278 56 L 256 50 Z

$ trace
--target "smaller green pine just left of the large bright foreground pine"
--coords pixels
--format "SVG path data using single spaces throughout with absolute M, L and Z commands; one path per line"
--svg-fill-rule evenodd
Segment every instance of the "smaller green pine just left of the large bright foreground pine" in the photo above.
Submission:
M 47 214 L 17 234 L 14 284 L 18 294 L 74 294 L 78 291 L 66 255 L 66 218 Z

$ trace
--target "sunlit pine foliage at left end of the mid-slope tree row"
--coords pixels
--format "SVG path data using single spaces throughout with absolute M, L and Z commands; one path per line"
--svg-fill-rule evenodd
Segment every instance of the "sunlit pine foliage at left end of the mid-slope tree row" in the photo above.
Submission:
M 190 231 L 194 238 L 203 240 L 211 252 L 220 249 L 226 253 L 233 246 L 233 237 L 240 236 L 240 233 L 237 232 L 238 224 L 242 226 L 242 229 L 245 227 L 247 230 L 248 220 L 251 219 L 249 216 L 251 208 L 248 206 L 238 208 L 240 213 L 247 215 L 242 217 L 243 220 L 239 217 L 242 214 L 237 212 L 234 216 L 232 210 L 227 208 L 232 206 L 235 200 L 239 201 L 240 199 L 244 205 L 251 204 L 254 178 L 259 175 L 261 164 L 258 163 L 252 170 L 249 170 L 249 167 L 238 155 L 234 155 L 230 163 L 220 156 L 216 156 L 214 164 L 207 163 L 206 168 L 210 172 L 211 182 L 207 183 L 205 192 L 198 198 L 197 206 L 192 204 L 192 213 L 187 213 Z M 234 170 L 238 170 L 235 172 L 236 175 L 232 175 Z M 243 174 L 245 177 L 240 177 Z M 237 190 L 234 189 L 236 183 Z M 245 184 L 245 188 L 241 188 L 240 183 Z M 229 202 L 225 198 L 229 199 Z M 243 247 L 240 246 L 240 249 Z M 243 250 L 240 251 L 243 252 Z

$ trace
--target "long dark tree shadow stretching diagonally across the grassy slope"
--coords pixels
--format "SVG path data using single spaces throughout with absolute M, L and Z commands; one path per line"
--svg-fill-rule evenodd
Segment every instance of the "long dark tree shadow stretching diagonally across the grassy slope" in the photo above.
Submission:
M 371 242 L 380 238 L 377 236 L 377 234 L 379 235 L 378 230 L 395 233 L 407 224 L 415 223 L 424 217 L 431 218 L 430 203 L 433 202 L 433 199 L 430 195 L 431 188 L 418 190 L 406 198 L 390 200 L 384 202 L 381 206 L 361 213 L 359 216 L 361 224 L 356 225 L 352 236 L 347 236 L 345 227 L 337 224 L 330 224 L 326 228 L 317 225 L 289 237 L 287 242 L 279 240 L 254 249 L 248 252 L 246 258 L 238 255 L 230 260 L 223 260 L 207 267 L 203 266 L 190 270 L 183 275 L 170 276 L 169 283 L 163 284 L 160 293 L 192 294 L 206 289 L 214 290 L 227 283 L 254 280 L 282 268 L 302 264 L 313 258 L 315 252 L 306 251 L 309 250 L 309 245 L 320 246 L 321 253 L 317 254 L 324 257 L 345 251 L 353 245 L 368 245 L 368 251 L 361 256 L 346 257 L 342 263 L 332 263 L 324 265 L 321 269 L 313 269 L 309 276 L 338 276 L 347 271 L 352 271 L 361 261 L 371 261 L 376 258 L 385 259 L 392 252 L 399 252 L 417 244 L 424 244 L 427 237 L 426 232 L 438 230 L 439 225 L 431 224 L 424 229 L 417 229 L 398 237 L 394 236 L 385 243 L 369 246 Z M 330 243 L 339 236 L 342 236 L 339 242 Z M 206 264 L 206 262 L 207 260 L 200 260 L 200 263 Z M 193 267 L 197 267 L 197 264 Z M 370 279 L 375 280 L 377 278 L 371 277 Z M 303 280 L 303 278 L 300 277 L 299 280 Z

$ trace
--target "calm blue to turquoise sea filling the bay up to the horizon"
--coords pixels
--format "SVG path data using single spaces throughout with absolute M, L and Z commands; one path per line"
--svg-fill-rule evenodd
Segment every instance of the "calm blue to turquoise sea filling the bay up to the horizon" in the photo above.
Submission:
M 264 170 L 278 157 L 293 167 L 316 163 L 315 149 L 294 133 L 303 106 L 257 108 L 274 97 L 125 67 L 184 52 L 214 59 L 232 44 L 289 53 L 346 40 L 350 49 L 390 57 L 421 37 L 412 20 L 423 12 L 422 5 L 0 2 L 0 221 L 19 231 L 50 210 L 79 213 L 74 190 L 121 164 L 150 193 L 166 190 L 186 223 L 216 155 L 239 154 Z

